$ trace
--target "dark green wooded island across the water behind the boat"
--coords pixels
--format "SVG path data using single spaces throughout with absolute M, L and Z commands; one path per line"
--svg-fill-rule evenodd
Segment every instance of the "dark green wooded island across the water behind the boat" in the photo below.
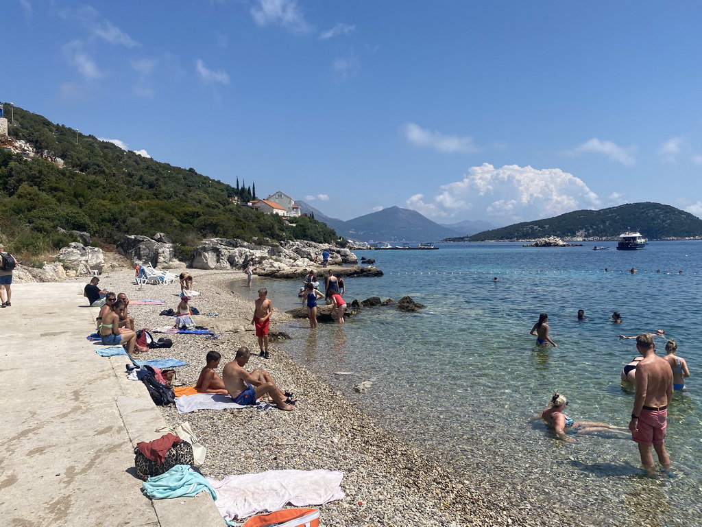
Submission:
M 444 238 L 442 242 L 528 242 L 550 236 L 578 242 L 616 240 L 630 227 L 637 228 L 649 240 L 702 239 L 702 219 L 670 205 L 644 202 L 567 212 L 470 236 Z

